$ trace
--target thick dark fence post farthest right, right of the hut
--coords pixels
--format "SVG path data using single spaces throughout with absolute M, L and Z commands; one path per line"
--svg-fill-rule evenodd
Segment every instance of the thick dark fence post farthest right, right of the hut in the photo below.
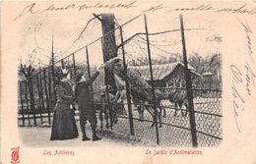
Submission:
M 196 132 L 196 121 L 195 121 L 195 111 L 194 111 L 194 102 L 193 102 L 193 90 L 192 90 L 190 70 L 188 69 L 188 66 L 187 66 L 187 52 L 186 52 L 186 43 L 185 43 L 182 15 L 179 16 L 179 19 L 180 19 L 181 39 L 182 39 L 182 47 L 183 47 L 183 62 L 185 65 L 187 98 L 188 98 L 188 106 L 189 106 L 189 123 L 191 128 L 192 143 L 194 147 L 197 147 L 198 142 L 197 142 L 197 134 L 196 134 L 197 132 Z

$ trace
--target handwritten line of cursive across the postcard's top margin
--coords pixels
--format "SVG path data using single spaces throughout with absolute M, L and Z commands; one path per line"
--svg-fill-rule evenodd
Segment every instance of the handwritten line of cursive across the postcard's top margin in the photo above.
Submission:
M 63 3 L 63 4 L 49 4 L 46 7 L 39 6 L 38 3 L 32 2 L 26 6 L 19 14 L 14 18 L 14 21 L 21 19 L 26 15 L 39 15 L 43 13 L 52 13 L 52 12 L 65 12 L 65 11 L 78 11 L 83 12 L 87 9 L 131 9 L 139 6 L 137 1 L 131 2 L 120 2 L 120 3 L 110 3 L 110 2 L 74 2 L 74 3 Z M 142 12 L 215 12 L 215 13 L 230 13 L 230 14 L 246 14 L 246 15 L 255 15 L 256 7 L 253 5 L 248 5 L 246 3 L 242 5 L 237 5 L 235 7 L 216 7 L 211 3 L 207 4 L 190 4 L 189 6 L 184 7 L 174 7 L 169 6 L 168 4 L 159 3 L 150 7 L 142 6 Z

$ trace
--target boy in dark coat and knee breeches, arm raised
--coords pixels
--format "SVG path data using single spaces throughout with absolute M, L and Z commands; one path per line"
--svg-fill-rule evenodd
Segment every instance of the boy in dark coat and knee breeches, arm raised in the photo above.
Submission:
M 96 109 L 93 101 L 93 95 L 90 92 L 91 84 L 96 80 L 99 72 L 93 75 L 89 80 L 85 78 L 83 74 L 76 77 L 75 82 L 75 99 L 78 103 L 80 126 L 83 134 L 83 141 L 90 140 L 91 138 L 86 135 L 86 123 L 90 122 L 93 131 L 93 141 L 100 140 L 100 137 L 96 136 Z

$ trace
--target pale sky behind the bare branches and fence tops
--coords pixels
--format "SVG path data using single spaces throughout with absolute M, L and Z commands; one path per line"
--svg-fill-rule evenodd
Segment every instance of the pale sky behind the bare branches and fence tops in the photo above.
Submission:
M 123 15 L 115 13 L 116 22 L 119 25 L 126 23 L 135 14 Z M 164 19 L 159 19 L 162 14 L 148 14 L 148 28 L 150 33 L 179 29 L 179 15 L 166 14 Z M 98 20 L 92 21 L 85 31 L 82 33 L 80 39 L 75 43 L 74 41 L 79 37 L 84 27 L 86 27 L 89 20 L 94 18 L 93 14 L 84 14 L 76 16 L 74 14 L 70 19 L 63 17 L 33 16 L 23 19 L 20 28 L 20 57 L 22 63 L 28 63 L 30 56 L 34 61 L 34 65 L 48 65 L 49 57 L 51 55 L 52 45 L 56 60 L 59 60 L 72 52 L 75 52 L 77 62 L 86 62 L 86 49 L 81 47 L 93 42 L 102 34 L 101 25 Z M 221 52 L 222 41 L 217 38 L 222 38 L 219 33 L 218 20 L 200 20 L 197 16 L 183 15 L 185 28 L 197 28 L 193 30 L 185 30 L 186 49 L 188 57 L 192 54 L 198 53 L 201 56 L 213 55 Z M 144 18 L 139 17 L 135 21 L 123 27 L 124 40 L 137 32 L 145 32 Z M 199 29 L 200 28 L 200 29 Z M 129 41 L 124 47 L 127 54 L 127 59 L 137 59 L 147 56 L 145 35 L 136 36 Z M 52 42 L 53 40 L 53 42 Z M 150 42 L 151 52 L 153 58 L 160 56 L 167 56 L 172 53 L 182 53 L 180 31 L 167 32 L 158 35 L 151 35 Z M 120 43 L 120 35 L 116 31 L 116 42 Z M 73 44 L 74 43 L 74 44 Z M 81 49 L 77 52 L 78 49 Z M 90 45 L 89 58 L 92 65 L 99 65 L 102 63 L 102 51 L 100 40 Z M 119 52 L 120 53 L 120 52 Z M 67 60 L 71 61 L 72 58 Z

